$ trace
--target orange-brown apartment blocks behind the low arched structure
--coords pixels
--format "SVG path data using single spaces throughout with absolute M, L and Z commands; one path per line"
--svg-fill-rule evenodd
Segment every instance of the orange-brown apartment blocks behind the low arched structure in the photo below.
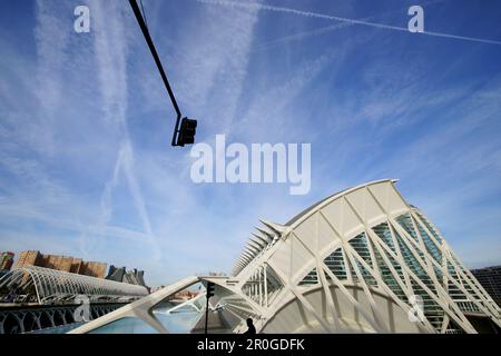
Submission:
M 19 253 L 13 267 L 38 266 L 51 268 L 78 275 L 105 278 L 107 264 L 85 261 L 81 258 L 70 256 L 43 255 L 37 250 Z

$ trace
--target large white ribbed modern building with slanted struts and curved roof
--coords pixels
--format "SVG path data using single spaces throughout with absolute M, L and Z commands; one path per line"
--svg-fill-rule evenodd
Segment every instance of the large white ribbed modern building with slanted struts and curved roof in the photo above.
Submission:
M 497 304 L 443 236 L 380 180 L 307 208 L 285 225 L 262 220 L 232 277 L 193 276 L 90 322 L 89 333 L 153 313 L 199 281 L 216 284 L 234 333 L 252 317 L 259 333 L 478 333 L 501 327 Z M 480 325 L 480 326 L 479 326 Z

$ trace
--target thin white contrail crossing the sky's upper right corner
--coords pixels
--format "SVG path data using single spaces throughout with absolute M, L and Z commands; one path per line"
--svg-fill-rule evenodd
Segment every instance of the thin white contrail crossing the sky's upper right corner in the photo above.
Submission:
M 296 10 L 296 9 L 258 3 L 258 2 L 242 2 L 242 1 L 236 2 L 236 1 L 228 1 L 228 0 L 196 0 L 196 1 L 200 2 L 200 3 L 206 3 L 206 4 L 236 7 L 236 8 L 245 8 L 245 9 L 253 9 L 253 10 L 257 9 L 257 10 L 265 10 L 265 11 L 273 11 L 273 12 L 284 12 L 284 13 L 292 13 L 292 14 L 310 17 L 310 18 L 334 20 L 334 21 L 346 22 L 346 23 L 352 23 L 352 24 L 363 24 L 363 26 L 369 26 L 369 27 L 374 27 L 374 28 L 385 29 L 385 30 L 409 32 L 409 29 L 405 27 L 391 26 L 391 24 L 384 24 L 384 23 L 377 23 L 377 22 L 371 22 L 371 21 L 364 21 L 364 20 L 355 20 L 355 19 L 348 19 L 348 18 L 338 17 L 338 16 L 311 12 L 311 11 L 302 11 L 302 10 Z M 456 34 L 432 32 L 432 31 L 424 31 L 424 32 L 416 32 L 416 33 L 501 46 L 501 41 L 490 40 L 490 39 L 456 36 Z M 413 33 L 413 34 L 415 34 L 415 33 Z

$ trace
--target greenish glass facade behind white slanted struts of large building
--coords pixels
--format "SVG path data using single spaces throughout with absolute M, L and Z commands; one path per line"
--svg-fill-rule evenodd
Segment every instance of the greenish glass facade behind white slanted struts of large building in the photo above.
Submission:
M 353 254 L 351 259 L 346 259 L 345 251 L 341 247 L 324 259 L 325 266 L 336 278 L 348 280 L 351 276 L 353 283 L 360 284 L 358 276 L 361 276 L 369 287 L 375 289 L 387 287 L 403 303 L 409 303 L 410 295 L 420 296 L 423 301 L 423 314 L 438 332 L 456 333 L 460 330 L 453 320 L 450 320 L 443 329 L 446 313 L 438 303 L 443 291 L 456 301 L 461 312 L 480 312 L 479 306 L 461 289 L 464 288 L 466 293 L 474 296 L 478 303 L 481 303 L 479 293 L 482 291 L 473 287 L 475 281 L 470 279 L 454 256 L 444 256 L 443 239 L 418 209 L 389 219 L 371 229 L 379 240 L 363 231 L 351 238 L 348 244 L 356 255 L 373 269 L 373 274 L 377 274 L 384 286 L 377 284 L 373 274 Z M 405 267 L 396 259 L 397 256 L 401 256 Z M 456 270 L 458 266 L 461 274 Z M 326 277 L 330 280 L 328 276 Z M 317 269 L 313 268 L 304 276 L 299 285 L 307 286 L 318 283 Z

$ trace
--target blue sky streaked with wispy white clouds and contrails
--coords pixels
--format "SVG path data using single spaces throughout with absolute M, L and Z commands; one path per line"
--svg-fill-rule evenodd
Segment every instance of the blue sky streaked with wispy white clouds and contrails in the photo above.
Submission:
M 469 267 L 501 263 L 499 1 L 144 0 L 197 141 L 311 142 L 312 188 L 196 185 L 127 1 L 1 1 L 0 250 L 146 270 L 229 271 L 259 218 L 399 178 Z M 73 9 L 90 8 L 90 33 Z M 242 6 L 243 4 L 243 6 Z M 291 11 L 297 10 L 297 11 Z

